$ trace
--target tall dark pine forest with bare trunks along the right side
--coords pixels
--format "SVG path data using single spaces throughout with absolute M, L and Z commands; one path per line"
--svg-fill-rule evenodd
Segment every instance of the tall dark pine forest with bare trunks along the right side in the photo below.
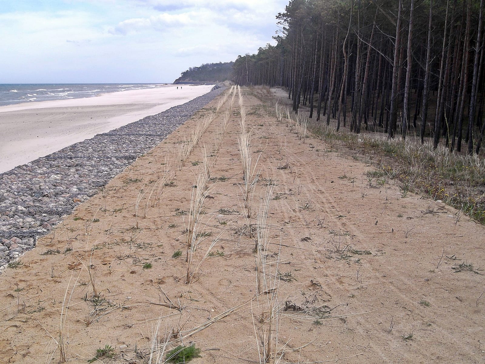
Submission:
M 337 131 L 480 152 L 484 0 L 291 0 L 276 18 L 276 45 L 238 56 L 236 83 L 283 86 Z

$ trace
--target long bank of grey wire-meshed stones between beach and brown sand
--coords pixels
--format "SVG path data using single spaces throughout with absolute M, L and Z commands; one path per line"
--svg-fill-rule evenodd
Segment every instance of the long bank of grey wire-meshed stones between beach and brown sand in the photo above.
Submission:
M 0 272 L 225 88 L 0 174 Z

